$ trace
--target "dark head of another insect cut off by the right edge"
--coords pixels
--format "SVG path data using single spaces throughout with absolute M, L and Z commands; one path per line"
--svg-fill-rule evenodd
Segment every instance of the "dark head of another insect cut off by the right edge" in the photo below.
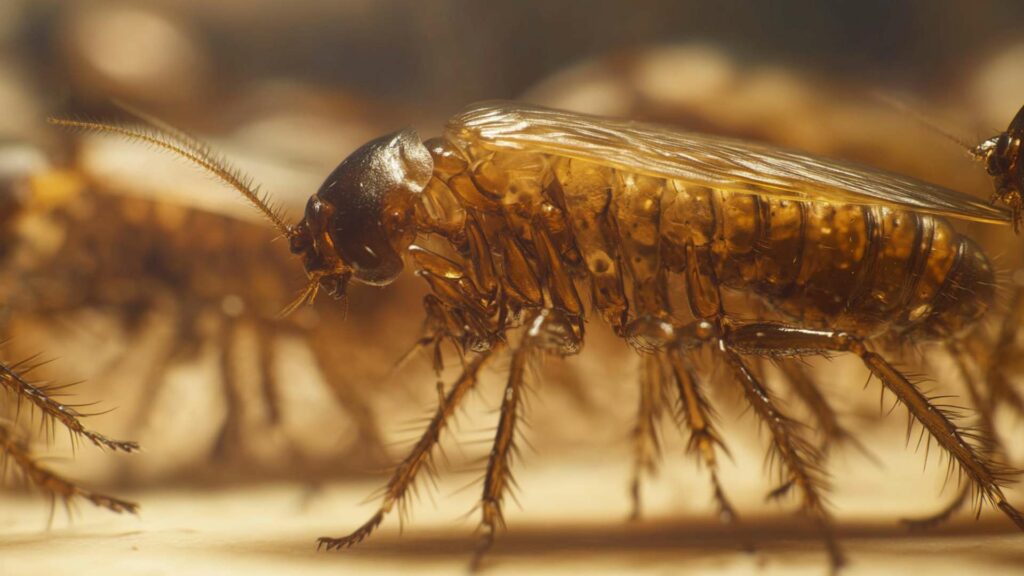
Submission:
M 992 202 L 1001 202 L 1013 211 L 1014 230 L 1019 231 L 1024 212 L 1024 107 L 1007 131 L 978 145 L 974 154 L 995 180 Z

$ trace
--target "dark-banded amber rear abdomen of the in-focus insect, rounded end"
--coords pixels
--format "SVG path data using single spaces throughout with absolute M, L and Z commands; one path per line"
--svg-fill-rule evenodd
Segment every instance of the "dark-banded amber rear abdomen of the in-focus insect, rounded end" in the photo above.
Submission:
M 754 292 L 802 325 L 939 336 L 991 304 L 991 264 L 942 218 L 676 188 L 663 201 L 666 248 L 702 246 L 720 284 Z

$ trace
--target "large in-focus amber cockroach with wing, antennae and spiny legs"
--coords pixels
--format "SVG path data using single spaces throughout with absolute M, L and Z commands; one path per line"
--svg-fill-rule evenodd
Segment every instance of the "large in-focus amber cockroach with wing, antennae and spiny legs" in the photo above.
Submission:
M 241 192 L 302 259 L 309 283 L 295 306 L 321 290 L 342 297 L 352 280 L 386 285 L 407 262 L 427 283 L 419 345 L 435 356 L 453 345 L 466 356 L 462 374 L 395 468 L 377 512 L 347 536 L 321 538 L 319 546 L 356 544 L 406 504 L 481 369 L 507 353 L 477 566 L 504 525 L 527 367 L 542 355 L 578 354 L 593 315 L 643 358 L 647 408 L 639 418 L 651 419 L 663 390 L 674 390 L 718 506 L 732 518 L 717 478 L 724 447 L 695 356 L 710 351 L 727 368 L 770 433 L 781 479 L 770 495 L 799 495 L 838 567 L 843 552 L 830 528 L 820 450 L 762 383 L 752 368 L 759 359 L 855 355 L 955 463 L 978 504 L 990 503 L 1024 530 L 1024 517 L 1004 494 L 1016 470 L 999 461 L 991 430 L 959 424 L 878 352 L 893 342 L 940 341 L 955 356 L 961 337 L 992 306 L 989 259 L 946 218 L 1020 221 L 1022 118 L 1024 111 L 1007 133 L 974 151 L 996 177 L 996 204 L 1008 210 L 767 146 L 484 102 L 452 118 L 441 137 L 421 141 L 402 130 L 358 149 L 309 198 L 295 225 L 190 137 L 159 127 L 54 122 L 166 149 Z M 729 310 L 726 292 L 749 294 L 761 312 Z M 813 381 L 803 385 L 820 397 Z

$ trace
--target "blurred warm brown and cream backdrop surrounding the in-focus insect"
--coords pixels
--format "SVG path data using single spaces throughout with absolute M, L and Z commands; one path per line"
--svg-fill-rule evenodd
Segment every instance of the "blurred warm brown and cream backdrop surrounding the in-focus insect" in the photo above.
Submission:
M 419 335 L 421 286 L 410 275 L 356 287 L 347 306 L 326 299 L 281 320 L 301 266 L 229 190 L 145 147 L 53 129 L 47 116 L 124 119 L 119 101 L 154 114 L 209 140 L 293 217 L 364 141 L 407 125 L 433 135 L 483 98 L 758 139 L 985 197 L 981 167 L 891 102 L 968 142 L 1004 129 L 1024 104 L 1022 23 L 1024 5 L 1011 1 L 4 0 L 2 358 L 52 359 L 39 377 L 81 380 L 76 402 L 114 409 L 89 425 L 143 452 L 73 452 L 66 435 L 36 435 L 38 420 L 20 414 L 47 465 L 141 512 L 79 504 L 69 520 L 58 504 L 47 529 L 49 503 L 8 475 L 0 574 L 463 570 L 502 384 L 501 370 L 489 373 L 460 414 L 447 465 L 401 537 L 392 518 L 362 548 L 315 553 L 316 536 L 372 511 L 364 502 L 435 402 L 427 358 L 395 368 Z M 1012 285 L 1019 240 L 973 232 Z M 599 326 L 588 337 L 580 358 L 540 370 L 520 505 L 488 570 L 826 571 L 813 529 L 792 506 L 764 503 L 766 435 L 711 365 L 732 452 L 723 482 L 757 551 L 715 520 L 706 471 L 669 421 L 664 465 L 644 484 L 646 520 L 627 524 L 637 361 Z M 963 395 L 941 356 L 904 360 Z M 955 495 L 944 462 L 933 453 L 926 465 L 904 445 L 901 409 L 880 413 L 878 384 L 862 389 L 857 363 L 814 364 L 878 460 L 829 456 L 849 573 L 1024 571 L 1024 538 L 988 511 L 903 530 L 900 518 Z M 1019 418 L 997 416 L 1007 439 L 1021 438 Z M 1007 444 L 1024 464 L 1020 443 Z M 1012 500 L 1024 505 L 1024 491 Z

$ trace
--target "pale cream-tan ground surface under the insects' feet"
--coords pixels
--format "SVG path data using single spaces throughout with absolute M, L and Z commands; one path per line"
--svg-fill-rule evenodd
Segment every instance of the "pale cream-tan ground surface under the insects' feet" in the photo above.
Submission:
M 921 458 L 907 457 L 899 442 L 892 444 L 891 453 L 881 454 L 884 469 L 864 465 L 855 455 L 841 457 L 836 466 L 835 508 L 852 561 L 844 574 L 1024 574 L 1024 535 L 994 513 L 978 523 L 962 516 L 928 534 L 898 527 L 896 518 L 934 506 L 949 492 L 938 496 L 941 480 L 923 480 Z M 520 466 L 521 506 L 510 506 L 509 531 L 489 557 L 487 573 L 827 573 L 813 529 L 760 503 L 757 453 L 734 448 L 736 462 L 724 470 L 726 488 L 746 512 L 740 530 L 758 551 L 743 551 L 736 532 L 711 518 L 706 483 L 688 460 L 674 458 L 649 484 L 648 520 L 629 524 L 623 520 L 625 454 L 575 460 L 541 448 Z M 936 467 L 934 461 L 929 466 Z M 392 518 L 369 544 L 330 553 L 314 550 L 315 537 L 339 535 L 364 520 L 371 509 L 359 502 L 378 481 L 317 489 L 275 484 L 144 491 L 129 494 L 142 502 L 137 519 L 81 507 L 69 524 L 58 509 L 49 531 L 40 499 L 5 496 L 0 574 L 463 573 L 476 522 L 465 512 L 478 490 L 460 489 L 471 485 L 474 475 L 444 475 L 434 492 L 436 505 L 430 498 L 419 502 L 404 534 L 399 536 Z M 1018 504 L 1024 500 L 1019 492 L 1013 498 Z

